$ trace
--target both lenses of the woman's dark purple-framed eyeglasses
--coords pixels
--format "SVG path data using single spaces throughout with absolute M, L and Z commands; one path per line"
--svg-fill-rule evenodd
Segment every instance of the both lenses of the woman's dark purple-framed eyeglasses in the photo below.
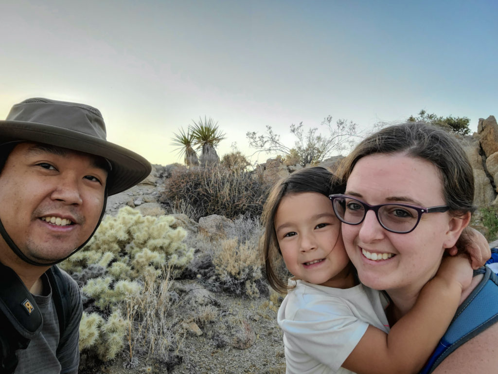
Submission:
M 358 224 L 365 217 L 365 205 L 354 198 L 335 198 L 334 210 L 346 223 Z M 413 229 L 418 222 L 416 209 L 396 204 L 386 204 L 378 208 L 377 218 L 388 230 L 403 232 Z

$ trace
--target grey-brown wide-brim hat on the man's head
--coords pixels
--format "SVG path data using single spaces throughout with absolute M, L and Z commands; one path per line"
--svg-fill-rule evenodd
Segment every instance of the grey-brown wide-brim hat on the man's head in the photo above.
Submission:
M 144 180 L 151 166 L 142 156 L 106 140 L 106 125 L 97 108 L 44 98 L 15 104 L 0 121 L 0 144 L 27 141 L 85 152 L 111 164 L 108 194 Z

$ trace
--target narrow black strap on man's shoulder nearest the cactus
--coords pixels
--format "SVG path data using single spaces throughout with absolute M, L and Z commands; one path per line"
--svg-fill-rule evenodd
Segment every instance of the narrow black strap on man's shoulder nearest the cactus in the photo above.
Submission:
M 59 321 L 59 347 L 63 342 L 64 331 L 67 324 L 71 319 L 71 295 L 69 294 L 69 286 L 67 280 L 62 275 L 57 265 L 53 265 L 46 271 L 48 281 L 52 288 L 52 300 L 55 304 L 55 311 L 57 312 L 57 319 Z

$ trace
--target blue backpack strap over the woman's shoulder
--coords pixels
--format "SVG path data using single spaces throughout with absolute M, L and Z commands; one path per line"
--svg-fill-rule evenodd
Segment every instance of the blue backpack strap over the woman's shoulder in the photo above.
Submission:
M 491 254 L 486 266 L 474 271 L 474 275 L 484 274 L 483 279 L 458 307 L 420 374 L 432 373 L 450 353 L 498 321 L 498 247 Z

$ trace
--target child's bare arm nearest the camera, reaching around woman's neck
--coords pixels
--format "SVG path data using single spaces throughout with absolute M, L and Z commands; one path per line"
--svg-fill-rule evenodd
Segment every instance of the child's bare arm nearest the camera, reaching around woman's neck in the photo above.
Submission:
M 418 373 L 450 325 L 471 280 L 466 255 L 445 257 L 413 308 L 389 334 L 369 326 L 343 368 L 358 374 Z

